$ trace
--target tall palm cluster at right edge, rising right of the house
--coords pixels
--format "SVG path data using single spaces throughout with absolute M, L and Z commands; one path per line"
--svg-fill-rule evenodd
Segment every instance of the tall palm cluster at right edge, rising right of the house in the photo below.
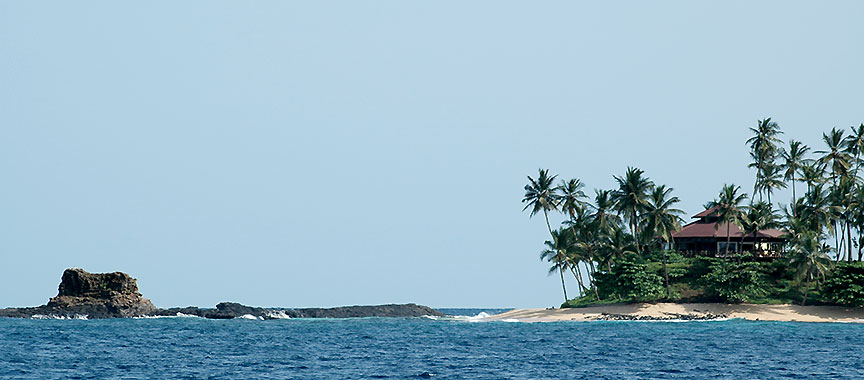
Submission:
M 864 186 L 859 172 L 864 124 L 851 127 L 848 135 L 837 128 L 823 133 L 825 147 L 815 151 L 816 157 L 812 158 L 808 157 L 810 147 L 800 141 L 790 140 L 788 146 L 781 146 L 778 136 L 783 132 L 770 118 L 760 120 L 751 131 L 754 135 L 747 142 L 753 158 L 750 167 L 756 169 L 754 196 L 762 200 L 766 195 L 771 207 L 775 189 L 792 187 L 792 200 L 782 209 L 793 246 L 807 236 L 819 241 L 820 246 L 833 240 L 833 246 L 824 253 L 833 251 L 837 260 L 852 261 L 857 249 L 860 261 L 864 247 Z M 796 182 L 807 186 L 801 197 L 797 196 Z

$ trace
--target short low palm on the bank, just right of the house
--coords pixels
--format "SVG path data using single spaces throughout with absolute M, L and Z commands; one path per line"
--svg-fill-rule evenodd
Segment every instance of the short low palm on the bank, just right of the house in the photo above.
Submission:
M 801 305 L 807 303 L 807 293 L 810 292 L 810 283 L 824 278 L 831 269 L 831 258 L 827 252 L 831 248 L 823 244 L 815 232 L 808 232 L 796 236 L 790 250 L 790 266 L 795 267 L 795 282 L 798 284 L 799 292 L 802 282 L 806 282 L 804 298 Z

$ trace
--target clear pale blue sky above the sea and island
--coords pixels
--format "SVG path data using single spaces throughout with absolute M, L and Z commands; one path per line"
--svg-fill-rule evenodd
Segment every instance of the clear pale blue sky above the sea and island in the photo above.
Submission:
M 864 122 L 864 6 L 752 3 L 0 1 L 0 307 L 557 305 L 538 167 L 695 214 Z

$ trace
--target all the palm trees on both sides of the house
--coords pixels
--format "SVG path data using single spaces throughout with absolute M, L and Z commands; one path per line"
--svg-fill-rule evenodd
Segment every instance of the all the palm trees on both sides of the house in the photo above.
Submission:
M 799 283 L 819 286 L 831 267 L 829 255 L 835 260 L 853 261 L 864 254 L 864 181 L 860 176 L 864 152 L 864 124 L 852 127 L 846 134 L 833 128 L 823 133 L 825 147 L 814 151 L 800 141 L 783 145 L 783 132 L 771 118 L 759 120 L 750 128 L 753 136 L 747 140 L 755 169 L 753 193 L 749 197 L 740 186 L 724 185 L 718 197 L 706 208 L 716 207 L 715 215 L 727 228 L 726 254 L 729 253 L 731 225 L 738 226 L 744 236 L 753 236 L 754 250 L 759 231 L 782 228 L 788 232 L 790 265 L 795 266 Z M 664 252 L 663 268 L 667 296 L 670 296 L 665 249 L 674 246 L 673 233 L 681 227 L 681 214 L 675 208 L 679 202 L 672 189 L 656 185 L 637 168 L 628 168 L 623 176 L 614 176 L 618 188 L 595 190 L 593 202 L 582 190 L 578 179 L 556 182 L 556 175 L 540 169 L 537 178 L 528 177 L 525 186 L 524 210 L 534 216 L 543 213 L 551 240 L 541 258 L 552 263 L 550 274 L 558 272 L 565 299 L 567 290 L 564 274 L 571 272 L 577 279 L 580 293 L 594 286 L 596 266 L 610 267 L 616 257 L 628 253 L 641 254 L 646 246 Z M 797 196 L 796 185 L 806 184 L 806 191 Z M 775 208 L 772 195 L 776 190 L 791 187 L 788 205 Z M 758 199 L 757 199 L 758 197 Z M 566 215 L 562 225 L 553 228 L 549 214 Z M 743 237 L 742 237 L 743 242 Z M 833 243 L 830 244 L 830 243 Z M 666 245 L 662 247 L 659 245 Z M 588 284 L 583 281 L 583 272 Z M 806 297 L 806 292 L 805 292 Z M 599 299 L 599 296 L 598 296 Z

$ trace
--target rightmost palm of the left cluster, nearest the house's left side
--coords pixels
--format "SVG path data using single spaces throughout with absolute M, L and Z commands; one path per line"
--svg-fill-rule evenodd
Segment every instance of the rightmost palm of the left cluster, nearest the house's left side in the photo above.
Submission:
M 671 187 L 666 185 L 655 186 L 648 197 L 648 206 L 646 206 L 646 221 L 647 229 L 654 236 L 659 236 L 667 244 L 672 242 L 674 245 L 675 238 L 672 236 L 675 231 L 681 229 L 681 215 L 684 211 L 674 208 L 675 204 L 680 202 L 678 197 L 672 197 Z M 666 279 L 666 298 L 672 298 L 672 290 L 669 287 L 669 270 L 666 268 L 666 249 L 663 249 L 663 277 Z

